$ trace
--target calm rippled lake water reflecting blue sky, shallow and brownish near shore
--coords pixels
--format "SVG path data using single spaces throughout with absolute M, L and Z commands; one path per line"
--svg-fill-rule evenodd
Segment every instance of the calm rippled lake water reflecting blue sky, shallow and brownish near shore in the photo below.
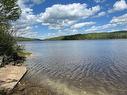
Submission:
M 127 40 L 21 42 L 26 79 L 58 95 L 127 95 Z

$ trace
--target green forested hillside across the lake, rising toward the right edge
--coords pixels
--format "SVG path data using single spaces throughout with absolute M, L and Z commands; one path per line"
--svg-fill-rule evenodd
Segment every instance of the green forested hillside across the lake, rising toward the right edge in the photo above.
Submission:
M 126 38 L 127 31 L 117 31 L 117 32 L 102 32 L 102 33 L 88 33 L 88 34 L 60 36 L 46 40 L 95 40 L 95 39 L 126 39 Z

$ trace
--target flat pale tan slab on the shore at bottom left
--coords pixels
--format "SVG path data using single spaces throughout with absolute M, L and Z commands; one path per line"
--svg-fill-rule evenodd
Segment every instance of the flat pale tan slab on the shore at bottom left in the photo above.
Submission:
M 0 95 L 8 95 L 26 74 L 26 66 L 6 65 L 0 68 Z

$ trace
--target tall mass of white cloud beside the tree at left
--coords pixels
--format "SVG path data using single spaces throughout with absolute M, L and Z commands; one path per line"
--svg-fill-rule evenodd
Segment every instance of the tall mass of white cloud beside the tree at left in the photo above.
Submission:
M 18 5 L 22 10 L 20 18 L 16 22 L 12 22 L 13 29 L 17 36 L 33 37 L 37 33 L 32 31 L 32 26 L 38 23 L 37 15 L 33 14 L 33 9 L 25 5 L 25 0 L 18 0 Z

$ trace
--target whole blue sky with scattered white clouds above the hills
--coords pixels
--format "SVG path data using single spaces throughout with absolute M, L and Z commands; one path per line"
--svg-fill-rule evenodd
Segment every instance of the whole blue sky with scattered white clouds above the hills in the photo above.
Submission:
M 18 0 L 17 36 L 51 37 L 127 30 L 127 0 Z

